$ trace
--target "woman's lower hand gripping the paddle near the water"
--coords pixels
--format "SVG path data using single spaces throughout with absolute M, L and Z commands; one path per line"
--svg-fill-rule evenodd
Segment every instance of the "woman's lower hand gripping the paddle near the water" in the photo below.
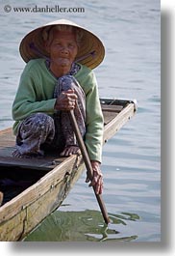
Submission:
M 96 194 L 102 194 L 103 191 L 103 175 L 100 170 L 100 162 L 98 161 L 91 161 L 91 166 L 93 170 L 93 178 L 89 184 L 89 186 L 94 186 Z M 90 180 L 87 177 L 86 183 Z

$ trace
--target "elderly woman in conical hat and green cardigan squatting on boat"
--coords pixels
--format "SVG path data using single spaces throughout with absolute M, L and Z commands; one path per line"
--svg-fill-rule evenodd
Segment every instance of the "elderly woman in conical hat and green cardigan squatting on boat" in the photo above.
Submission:
M 93 169 L 91 185 L 102 193 L 103 115 L 91 70 L 104 58 L 103 44 L 86 29 L 61 19 L 29 33 L 20 53 L 27 65 L 13 101 L 13 156 L 43 156 L 51 150 L 61 156 L 76 154 L 79 148 L 67 114 L 74 109 Z

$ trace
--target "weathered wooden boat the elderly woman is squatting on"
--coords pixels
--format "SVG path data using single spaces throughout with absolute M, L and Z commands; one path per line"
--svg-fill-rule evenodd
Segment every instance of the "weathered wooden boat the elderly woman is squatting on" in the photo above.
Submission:
M 104 143 L 135 114 L 132 100 L 101 100 Z M 14 158 L 12 128 L 0 132 L 0 241 L 21 241 L 63 202 L 85 166 L 81 154 Z M 3 183 L 5 185 L 3 185 Z

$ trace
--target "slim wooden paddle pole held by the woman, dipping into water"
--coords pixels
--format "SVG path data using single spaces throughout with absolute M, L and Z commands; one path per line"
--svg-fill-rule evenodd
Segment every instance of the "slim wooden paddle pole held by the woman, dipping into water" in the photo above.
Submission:
M 83 140 L 82 135 L 80 133 L 80 129 L 79 129 L 78 125 L 77 125 L 77 121 L 75 119 L 75 115 L 74 115 L 74 111 L 73 110 L 70 110 L 69 117 L 70 117 L 72 128 L 73 128 L 73 130 L 75 132 L 75 135 L 76 135 L 76 138 L 77 138 L 77 141 L 78 141 L 78 144 L 79 144 L 82 156 L 84 158 L 84 161 L 85 161 L 85 164 L 86 164 L 86 167 L 87 167 L 87 176 L 89 177 L 90 180 L 92 180 L 92 178 L 93 178 L 93 170 L 92 170 L 92 167 L 91 167 L 91 162 L 90 162 L 89 156 L 87 154 L 87 148 L 85 146 L 84 140 Z M 107 213 L 105 204 L 103 202 L 102 195 L 101 194 L 96 194 L 94 187 L 93 187 L 93 191 L 95 193 L 95 196 L 96 196 L 96 199 L 98 201 L 101 213 L 102 213 L 102 215 L 104 217 L 104 220 L 108 224 L 108 223 L 110 223 L 110 218 L 109 218 L 109 215 Z

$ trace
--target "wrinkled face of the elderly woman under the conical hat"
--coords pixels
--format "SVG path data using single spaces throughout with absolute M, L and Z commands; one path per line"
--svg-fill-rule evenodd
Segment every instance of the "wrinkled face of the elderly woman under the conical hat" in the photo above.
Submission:
M 71 67 L 78 52 L 75 34 L 69 31 L 54 31 L 52 42 L 46 46 L 53 65 Z

